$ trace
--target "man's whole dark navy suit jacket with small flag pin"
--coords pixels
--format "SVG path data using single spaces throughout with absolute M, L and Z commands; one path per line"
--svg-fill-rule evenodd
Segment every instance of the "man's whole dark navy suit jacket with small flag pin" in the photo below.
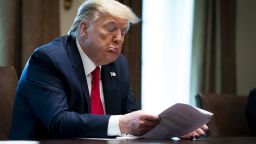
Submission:
M 19 80 L 9 138 L 107 137 L 110 115 L 137 109 L 123 55 L 102 66 L 101 80 L 106 115 L 91 115 L 87 81 L 75 38 L 60 37 L 36 49 Z

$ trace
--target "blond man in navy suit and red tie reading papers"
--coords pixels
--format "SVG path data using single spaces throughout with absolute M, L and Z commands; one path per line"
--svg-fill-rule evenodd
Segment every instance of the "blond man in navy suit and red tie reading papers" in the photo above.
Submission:
M 85 1 L 69 35 L 36 49 L 26 64 L 10 139 L 139 136 L 154 128 L 158 116 L 136 111 L 121 54 L 129 24 L 138 21 L 115 0 Z

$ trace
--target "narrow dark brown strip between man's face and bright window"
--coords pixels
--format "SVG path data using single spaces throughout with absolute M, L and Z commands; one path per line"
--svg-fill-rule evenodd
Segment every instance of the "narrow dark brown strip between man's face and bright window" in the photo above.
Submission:
M 132 8 L 139 18 L 142 18 L 142 0 L 119 0 Z M 142 23 L 132 25 L 126 35 L 123 45 L 123 54 L 130 65 L 131 87 L 134 91 L 138 106 L 141 108 L 141 37 Z

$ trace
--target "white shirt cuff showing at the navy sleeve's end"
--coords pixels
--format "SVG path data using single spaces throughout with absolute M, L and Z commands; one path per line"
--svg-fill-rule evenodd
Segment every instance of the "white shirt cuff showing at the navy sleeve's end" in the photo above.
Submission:
M 108 121 L 108 136 L 121 136 L 119 118 L 121 115 L 112 115 Z

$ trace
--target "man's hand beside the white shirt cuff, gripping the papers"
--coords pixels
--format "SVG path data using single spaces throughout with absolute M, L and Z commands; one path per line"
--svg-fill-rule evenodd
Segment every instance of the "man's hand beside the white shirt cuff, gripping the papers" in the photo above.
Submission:
M 158 116 L 146 114 L 143 111 L 135 111 L 122 115 L 119 126 L 122 134 L 141 136 L 160 123 Z

